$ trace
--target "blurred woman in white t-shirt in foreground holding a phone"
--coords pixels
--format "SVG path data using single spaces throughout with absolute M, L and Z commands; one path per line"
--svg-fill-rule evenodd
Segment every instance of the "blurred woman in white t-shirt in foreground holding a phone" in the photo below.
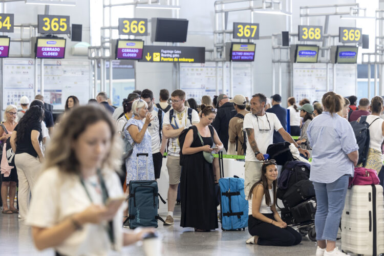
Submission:
M 110 114 L 79 106 L 62 119 L 34 188 L 27 224 L 37 249 L 57 255 L 107 255 L 142 239 L 123 233 L 120 152 Z M 119 199 L 115 205 L 107 199 Z

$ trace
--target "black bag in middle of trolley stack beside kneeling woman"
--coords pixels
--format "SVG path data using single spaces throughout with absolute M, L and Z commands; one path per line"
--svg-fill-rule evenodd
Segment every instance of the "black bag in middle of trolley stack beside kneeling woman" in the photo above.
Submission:
M 315 189 L 312 181 L 301 180 L 287 190 L 283 196 L 283 204 L 284 207 L 292 208 L 315 196 Z

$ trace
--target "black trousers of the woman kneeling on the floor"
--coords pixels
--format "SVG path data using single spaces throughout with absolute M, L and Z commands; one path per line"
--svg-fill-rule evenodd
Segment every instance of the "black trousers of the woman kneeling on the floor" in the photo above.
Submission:
M 263 214 L 274 220 L 273 214 Z M 291 227 L 280 228 L 273 224 L 248 217 L 248 231 L 251 236 L 258 236 L 258 245 L 292 246 L 300 244 L 302 236 Z

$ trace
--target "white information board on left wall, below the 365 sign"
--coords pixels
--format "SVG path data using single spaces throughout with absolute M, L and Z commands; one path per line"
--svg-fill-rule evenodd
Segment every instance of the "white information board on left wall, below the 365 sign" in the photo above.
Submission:
M 40 61 L 29 58 L 7 58 L 3 60 L 3 110 L 9 104 L 20 108 L 20 98 L 34 99 L 35 61 L 38 63 L 37 86 L 40 87 Z M 53 104 L 54 110 L 63 110 L 70 95 L 86 104 L 89 95 L 89 60 L 45 60 L 44 97 Z M 40 90 L 38 90 L 40 93 Z

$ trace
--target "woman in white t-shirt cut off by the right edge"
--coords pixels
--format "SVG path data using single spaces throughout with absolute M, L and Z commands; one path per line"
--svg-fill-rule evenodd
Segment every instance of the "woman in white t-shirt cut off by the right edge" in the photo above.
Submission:
M 370 137 L 369 151 L 367 164 L 364 167 L 374 169 L 378 174 L 382 167 L 381 143 L 384 140 L 384 120 L 380 118 L 380 115 L 384 111 L 384 100 L 380 96 L 373 97 L 369 110 L 371 115 L 367 116 L 366 120 L 370 124 L 368 128 Z M 357 121 L 360 121 L 360 118 Z

